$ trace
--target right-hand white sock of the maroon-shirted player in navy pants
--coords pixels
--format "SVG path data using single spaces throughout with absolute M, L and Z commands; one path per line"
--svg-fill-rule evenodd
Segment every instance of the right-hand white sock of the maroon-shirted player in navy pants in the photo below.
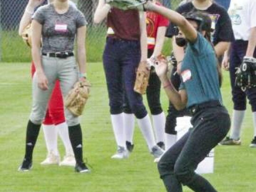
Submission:
M 146 117 L 142 119 L 137 119 L 137 122 L 140 128 L 140 131 L 146 140 L 147 146 L 151 151 L 152 147 L 154 147 L 156 143 L 155 143 L 154 133 L 153 133 L 152 125 L 151 125 L 148 114 L 146 115 Z

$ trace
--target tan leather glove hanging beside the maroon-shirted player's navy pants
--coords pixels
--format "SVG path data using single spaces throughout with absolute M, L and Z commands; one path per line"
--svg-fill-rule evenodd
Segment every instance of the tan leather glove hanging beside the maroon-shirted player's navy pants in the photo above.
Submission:
M 150 67 L 146 61 L 139 63 L 136 72 L 136 81 L 134 84 L 134 91 L 140 94 L 146 93 L 146 87 L 148 85 L 148 79 L 150 75 Z

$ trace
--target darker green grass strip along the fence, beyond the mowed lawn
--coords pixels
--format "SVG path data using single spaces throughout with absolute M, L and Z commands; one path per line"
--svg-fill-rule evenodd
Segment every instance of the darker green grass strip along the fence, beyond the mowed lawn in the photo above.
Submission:
M 1 33 L 1 32 L 0 32 Z M 106 27 L 90 26 L 86 37 L 86 55 L 88 62 L 99 62 L 106 42 Z M 166 38 L 163 53 L 169 55 L 171 40 Z M 3 31 L 0 36 L 0 61 L 2 62 L 29 62 L 30 48 L 18 36 L 18 31 Z

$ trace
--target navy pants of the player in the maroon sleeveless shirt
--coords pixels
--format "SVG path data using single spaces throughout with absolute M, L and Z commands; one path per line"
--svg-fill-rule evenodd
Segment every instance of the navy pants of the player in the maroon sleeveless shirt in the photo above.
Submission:
M 139 41 L 107 38 L 103 66 L 110 99 L 110 114 L 123 112 L 125 91 L 132 113 L 139 119 L 146 117 L 142 96 L 133 91 L 140 58 Z

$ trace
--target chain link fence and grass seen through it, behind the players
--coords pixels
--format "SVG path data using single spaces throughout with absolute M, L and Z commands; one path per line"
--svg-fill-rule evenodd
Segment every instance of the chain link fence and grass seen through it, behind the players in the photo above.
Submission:
M 162 0 L 166 7 L 173 9 L 182 0 Z M 0 61 L 28 62 L 31 51 L 18 36 L 18 25 L 28 0 L 0 0 Z M 106 40 L 105 22 L 93 24 L 93 14 L 98 0 L 73 0 L 88 21 L 86 50 L 89 62 L 101 61 Z M 166 40 L 164 52 L 170 52 L 170 42 Z

